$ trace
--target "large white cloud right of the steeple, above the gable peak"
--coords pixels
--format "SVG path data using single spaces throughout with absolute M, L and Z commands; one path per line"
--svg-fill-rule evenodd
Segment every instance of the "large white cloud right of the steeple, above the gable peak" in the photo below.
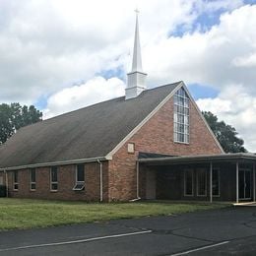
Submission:
M 220 25 L 208 32 L 149 43 L 144 49 L 145 69 L 153 85 L 184 80 L 222 90 L 242 84 L 256 94 L 255 28 L 256 5 L 243 6 L 225 13 Z

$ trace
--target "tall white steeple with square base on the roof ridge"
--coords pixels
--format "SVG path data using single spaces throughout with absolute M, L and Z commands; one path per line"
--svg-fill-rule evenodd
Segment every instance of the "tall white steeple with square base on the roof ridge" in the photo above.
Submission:
M 139 36 L 139 11 L 136 10 L 136 26 L 133 48 L 132 71 L 127 74 L 127 88 L 125 89 L 125 99 L 139 96 L 146 89 L 147 74 L 142 69 L 141 44 Z

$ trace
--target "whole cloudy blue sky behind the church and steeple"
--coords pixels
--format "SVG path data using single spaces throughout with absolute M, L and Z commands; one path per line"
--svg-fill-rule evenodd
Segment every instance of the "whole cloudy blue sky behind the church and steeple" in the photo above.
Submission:
M 124 96 L 136 8 L 147 87 L 184 81 L 256 152 L 256 0 L 0 0 L 0 103 L 46 119 Z

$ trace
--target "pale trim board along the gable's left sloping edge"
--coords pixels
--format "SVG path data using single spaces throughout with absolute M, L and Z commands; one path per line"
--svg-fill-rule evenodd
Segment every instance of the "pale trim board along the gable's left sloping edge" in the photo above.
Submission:
M 184 86 L 183 82 L 180 82 L 179 85 L 165 98 L 160 101 L 160 104 L 148 115 L 146 116 L 117 146 L 106 155 L 106 158 L 112 158 L 113 155 L 128 141 L 132 138 L 132 136 L 137 133 L 145 123 L 147 123 L 159 110 L 160 108 L 169 100 L 171 96 Z

